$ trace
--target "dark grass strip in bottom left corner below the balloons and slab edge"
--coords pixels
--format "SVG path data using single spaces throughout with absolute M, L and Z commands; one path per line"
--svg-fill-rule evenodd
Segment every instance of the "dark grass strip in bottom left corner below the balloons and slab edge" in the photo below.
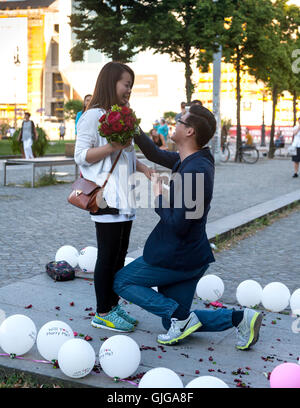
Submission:
M 42 383 L 23 372 L 0 373 L 0 388 L 64 388 L 60 383 Z

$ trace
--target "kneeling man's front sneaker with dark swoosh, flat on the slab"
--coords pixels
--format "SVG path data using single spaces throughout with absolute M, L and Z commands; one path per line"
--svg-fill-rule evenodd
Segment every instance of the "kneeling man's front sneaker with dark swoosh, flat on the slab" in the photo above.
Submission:
M 171 319 L 171 327 L 167 334 L 159 334 L 157 342 L 165 345 L 172 345 L 192 334 L 199 329 L 202 323 L 194 312 L 186 320 Z

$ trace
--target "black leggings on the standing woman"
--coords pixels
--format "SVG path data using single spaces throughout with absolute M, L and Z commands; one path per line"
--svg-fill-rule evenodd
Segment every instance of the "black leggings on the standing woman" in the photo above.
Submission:
M 98 245 L 94 272 L 97 313 L 107 313 L 119 301 L 112 287 L 116 272 L 124 266 L 132 221 L 95 224 Z

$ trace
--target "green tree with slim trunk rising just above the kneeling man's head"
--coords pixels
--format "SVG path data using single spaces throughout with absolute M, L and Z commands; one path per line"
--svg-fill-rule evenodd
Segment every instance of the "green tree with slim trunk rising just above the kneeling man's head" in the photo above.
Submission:
M 130 18 L 136 21 L 133 44 L 141 50 L 153 49 L 154 53 L 168 54 L 172 61 L 183 63 L 186 99 L 191 102 L 194 91 L 192 66 L 200 50 L 209 55 L 217 50 L 215 40 L 220 28 L 218 9 L 221 5 L 213 0 L 139 3 L 139 7 L 130 11 Z

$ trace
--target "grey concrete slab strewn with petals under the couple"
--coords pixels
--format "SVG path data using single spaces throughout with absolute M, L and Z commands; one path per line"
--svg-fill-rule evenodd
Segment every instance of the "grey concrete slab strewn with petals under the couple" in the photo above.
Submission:
M 46 274 L 0 288 L 0 308 L 6 316 L 24 314 L 34 321 L 37 330 L 50 320 L 65 321 L 78 334 L 92 337 L 90 344 L 98 355 L 105 339 L 116 333 L 90 325 L 92 317 L 85 308 L 91 307 L 93 300 L 91 282 L 83 279 L 54 282 Z M 70 302 L 74 302 L 74 306 L 70 306 Z M 32 307 L 25 309 L 30 304 Z M 56 306 L 60 310 L 55 309 Z M 184 385 L 199 375 L 214 375 L 232 388 L 237 385 L 235 380 L 241 380 L 249 387 L 268 388 L 266 374 L 283 361 L 297 362 L 300 355 L 299 334 L 291 329 L 294 320 L 282 313 L 266 313 L 259 342 L 252 350 L 242 352 L 234 347 L 235 329 L 196 333 L 177 346 L 158 347 L 156 336 L 164 332 L 160 319 L 133 304 L 127 303 L 125 307 L 140 321 L 136 331 L 129 334 L 142 349 L 141 364 L 134 377 L 154 367 L 168 367 L 181 376 Z M 203 307 L 202 301 L 195 298 L 193 309 Z M 126 381 L 116 383 L 102 371 L 81 379 L 68 378 L 51 364 L 32 361 L 43 359 L 36 345 L 23 357 L 26 360 L 1 356 L 0 365 L 43 376 L 53 383 L 65 381 L 75 387 L 136 388 Z M 138 384 L 136 379 L 132 381 Z

